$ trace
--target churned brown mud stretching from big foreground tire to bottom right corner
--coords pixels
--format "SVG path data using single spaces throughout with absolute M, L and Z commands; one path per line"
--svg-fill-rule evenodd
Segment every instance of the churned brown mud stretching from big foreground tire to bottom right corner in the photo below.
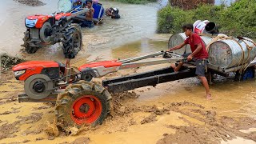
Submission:
M 120 97 L 121 96 L 121 97 Z M 240 130 L 247 130 L 256 127 L 256 120 L 249 117 L 218 117 L 217 111 L 214 107 L 211 110 L 206 110 L 202 105 L 193 102 L 172 102 L 164 104 L 162 109 L 157 106 L 123 106 L 122 100 L 125 98 L 136 98 L 135 93 L 119 94 L 118 97 L 114 96 L 114 117 L 130 117 L 130 114 L 136 112 L 150 113 L 150 116 L 142 119 L 141 125 L 158 121 L 157 116 L 163 114 L 170 114 L 176 112 L 183 114 L 189 118 L 194 118 L 204 125 L 198 125 L 190 120 L 179 117 L 182 121 L 189 124 L 189 126 L 167 126 L 170 129 L 176 130 L 175 134 L 163 134 L 164 138 L 160 139 L 157 143 L 220 143 L 221 141 L 228 141 L 237 137 L 246 138 L 256 142 L 256 132 L 249 134 L 242 133 Z M 132 120 L 133 118 L 131 118 Z M 137 123 L 135 123 L 137 124 Z

